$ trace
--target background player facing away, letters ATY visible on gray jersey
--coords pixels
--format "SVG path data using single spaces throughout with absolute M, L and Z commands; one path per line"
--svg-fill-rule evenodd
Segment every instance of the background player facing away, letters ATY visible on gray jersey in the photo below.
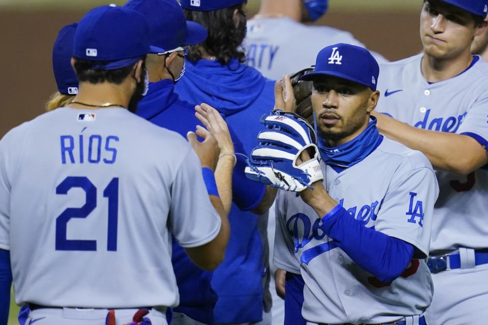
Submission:
M 325 46 L 364 47 L 347 31 L 303 24 L 319 19 L 327 9 L 328 0 L 262 0 L 258 14 L 248 21 L 246 64 L 267 78 L 280 80 L 283 74 L 312 66 L 315 54 Z M 387 62 L 372 53 L 379 62 Z

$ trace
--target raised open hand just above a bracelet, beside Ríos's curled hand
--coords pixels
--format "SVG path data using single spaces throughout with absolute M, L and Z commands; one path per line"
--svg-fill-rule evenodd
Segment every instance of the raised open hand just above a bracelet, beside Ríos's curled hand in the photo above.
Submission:
M 229 128 L 219 112 L 208 104 L 195 106 L 195 116 L 217 139 L 221 152 L 234 153 L 234 143 Z

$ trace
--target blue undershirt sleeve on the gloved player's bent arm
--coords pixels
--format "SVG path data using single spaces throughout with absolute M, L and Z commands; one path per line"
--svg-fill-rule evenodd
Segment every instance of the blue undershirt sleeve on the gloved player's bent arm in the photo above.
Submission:
M 338 247 L 382 282 L 398 278 L 412 260 L 412 244 L 366 228 L 340 205 L 327 213 L 322 223 Z

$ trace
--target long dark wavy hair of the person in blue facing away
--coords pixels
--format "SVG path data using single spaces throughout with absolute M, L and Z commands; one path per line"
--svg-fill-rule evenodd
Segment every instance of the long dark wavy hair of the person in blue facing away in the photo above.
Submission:
M 187 20 L 199 23 L 207 29 L 208 37 L 198 45 L 190 47 L 187 58 L 198 61 L 202 58 L 201 49 L 208 55 L 215 56 L 222 63 L 227 64 L 232 58 L 240 62 L 245 61 L 245 53 L 241 47 L 246 37 L 246 14 L 243 11 L 245 3 L 214 11 L 193 11 L 184 9 Z M 234 10 L 237 9 L 237 24 L 234 22 Z

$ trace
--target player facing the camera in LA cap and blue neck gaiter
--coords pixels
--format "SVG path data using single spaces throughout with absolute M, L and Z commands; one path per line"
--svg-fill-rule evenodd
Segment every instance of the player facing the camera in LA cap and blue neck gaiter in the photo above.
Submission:
M 301 198 L 279 191 L 274 262 L 292 274 L 291 286 L 303 277 L 301 313 L 308 322 L 425 324 L 433 294 L 425 257 L 438 185 L 423 154 L 379 134 L 370 117 L 380 96 L 378 73 L 367 50 L 335 44 L 302 76 L 314 82 L 323 181 L 304 187 Z M 277 98 L 277 107 L 288 105 Z M 277 137 L 262 143 L 262 159 L 280 148 Z M 298 167 L 308 160 L 301 152 Z

